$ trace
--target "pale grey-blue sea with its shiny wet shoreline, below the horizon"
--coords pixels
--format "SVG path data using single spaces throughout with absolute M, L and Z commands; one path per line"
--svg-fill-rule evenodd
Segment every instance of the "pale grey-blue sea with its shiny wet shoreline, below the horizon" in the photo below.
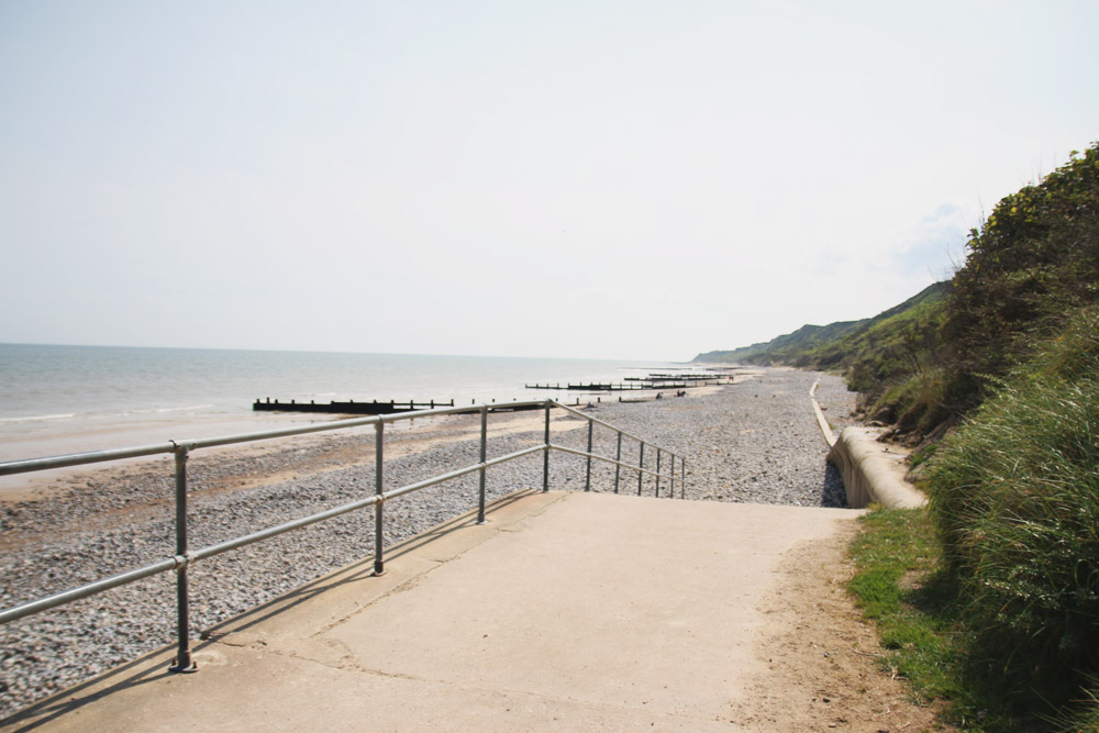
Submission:
M 256 400 L 455 404 L 608 393 L 525 385 L 620 382 L 667 362 L 0 344 L 0 460 L 179 437 L 318 415 L 257 413 Z M 613 392 L 610 395 L 614 395 Z M 330 418 L 321 418 L 330 419 Z

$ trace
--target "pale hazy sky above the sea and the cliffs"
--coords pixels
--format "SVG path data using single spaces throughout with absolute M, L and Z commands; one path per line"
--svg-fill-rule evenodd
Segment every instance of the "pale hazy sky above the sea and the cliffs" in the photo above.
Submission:
M 948 278 L 1099 3 L 0 0 L 0 342 L 687 360 Z

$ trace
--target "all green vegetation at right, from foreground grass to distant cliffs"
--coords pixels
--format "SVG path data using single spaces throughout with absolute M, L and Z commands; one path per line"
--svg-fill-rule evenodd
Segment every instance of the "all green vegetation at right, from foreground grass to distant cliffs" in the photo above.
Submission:
M 700 355 L 842 371 L 918 445 L 851 590 L 963 728 L 1099 730 L 1099 144 L 1000 201 L 953 280 L 874 319 Z

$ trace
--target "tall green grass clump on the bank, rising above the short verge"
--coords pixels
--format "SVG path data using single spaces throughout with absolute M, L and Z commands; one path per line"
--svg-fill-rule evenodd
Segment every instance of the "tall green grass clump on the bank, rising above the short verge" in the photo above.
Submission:
M 1058 704 L 1099 674 L 1099 308 L 1034 354 L 937 451 L 925 488 L 981 654 Z

